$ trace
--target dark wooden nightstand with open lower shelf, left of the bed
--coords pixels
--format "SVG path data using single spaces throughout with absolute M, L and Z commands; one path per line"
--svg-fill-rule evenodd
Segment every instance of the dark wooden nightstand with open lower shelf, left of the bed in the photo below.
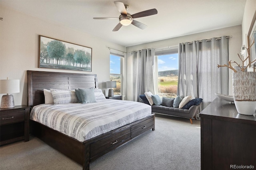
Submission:
M 26 105 L 0 109 L 0 145 L 29 141 L 29 111 Z

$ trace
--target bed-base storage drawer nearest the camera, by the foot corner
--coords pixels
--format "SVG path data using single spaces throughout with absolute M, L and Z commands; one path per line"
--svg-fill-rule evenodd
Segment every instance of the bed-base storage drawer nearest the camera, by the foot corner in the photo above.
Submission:
M 110 150 L 117 148 L 131 139 L 130 128 L 126 128 L 120 132 L 107 136 L 97 142 L 90 144 L 90 161 L 106 154 Z

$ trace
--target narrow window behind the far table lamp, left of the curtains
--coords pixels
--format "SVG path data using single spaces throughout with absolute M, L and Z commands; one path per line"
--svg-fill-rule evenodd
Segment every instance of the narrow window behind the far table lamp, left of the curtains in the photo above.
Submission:
M 116 81 L 116 88 L 113 88 L 114 95 L 121 95 L 123 57 L 119 54 L 110 53 L 110 80 Z

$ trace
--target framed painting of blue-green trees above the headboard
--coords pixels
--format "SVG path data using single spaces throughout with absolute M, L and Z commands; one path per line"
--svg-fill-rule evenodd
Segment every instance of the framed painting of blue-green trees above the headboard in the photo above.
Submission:
M 92 48 L 39 36 L 39 68 L 92 71 Z

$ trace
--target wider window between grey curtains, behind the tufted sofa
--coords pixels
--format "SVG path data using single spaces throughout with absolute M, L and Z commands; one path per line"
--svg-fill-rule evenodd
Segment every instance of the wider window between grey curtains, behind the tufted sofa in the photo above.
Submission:
M 172 49 L 155 51 L 157 63 L 156 86 L 160 97 L 176 97 L 178 89 L 178 47 Z

